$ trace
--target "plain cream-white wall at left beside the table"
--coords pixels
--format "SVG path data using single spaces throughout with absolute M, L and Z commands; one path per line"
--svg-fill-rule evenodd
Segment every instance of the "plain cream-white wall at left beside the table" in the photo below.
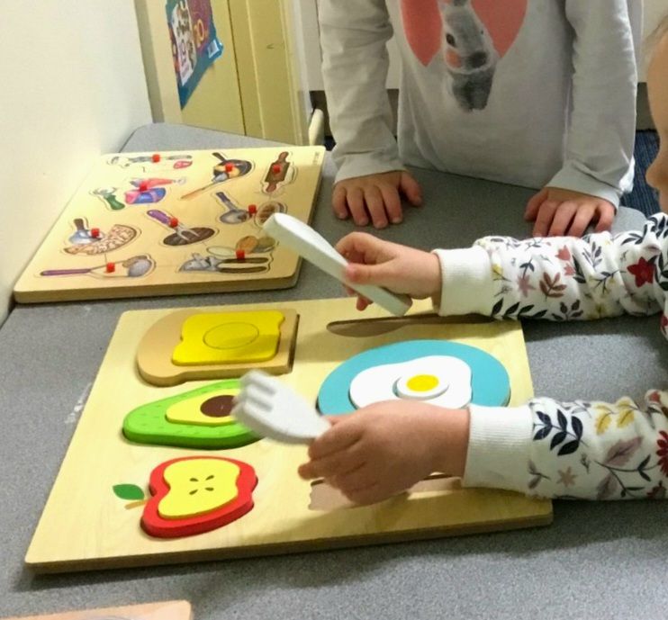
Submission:
M 3 0 L 0 323 L 100 153 L 151 121 L 132 0 Z

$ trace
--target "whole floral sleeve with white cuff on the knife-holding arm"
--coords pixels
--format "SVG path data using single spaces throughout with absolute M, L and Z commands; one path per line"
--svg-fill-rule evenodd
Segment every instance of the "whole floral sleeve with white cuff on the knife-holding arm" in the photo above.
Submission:
M 660 215 L 642 233 L 614 238 L 483 238 L 469 249 L 438 250 L 439 312 L 555 321 L 652 314 L 668 282 L 667 227 Z

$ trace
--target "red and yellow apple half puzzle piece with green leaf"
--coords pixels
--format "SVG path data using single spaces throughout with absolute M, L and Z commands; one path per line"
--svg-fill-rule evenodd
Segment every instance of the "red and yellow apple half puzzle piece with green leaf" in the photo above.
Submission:
M 151 497 L 141 517 L 142 529 L 157 538 L 180 538 L 227 526 L 253 508 L 255 470 L 234 459 L 189 456 L 161 463 L 150 474 Z M 125 499 L 133 485 L 114 492 Z M 125 495 L 123 495 L 123 490 Z

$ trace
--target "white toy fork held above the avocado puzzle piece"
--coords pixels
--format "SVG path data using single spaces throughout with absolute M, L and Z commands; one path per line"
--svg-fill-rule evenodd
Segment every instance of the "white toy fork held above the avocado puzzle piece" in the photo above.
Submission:
M 306 400 L 257 370 L 241 377 L 231 414 L 258 435 L 284 444 L 308 444 L 329 428 Z

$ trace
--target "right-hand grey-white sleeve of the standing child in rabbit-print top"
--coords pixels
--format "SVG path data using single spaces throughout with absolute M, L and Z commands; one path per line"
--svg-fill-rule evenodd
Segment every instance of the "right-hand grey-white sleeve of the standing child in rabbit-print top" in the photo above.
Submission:
M 636 52 L 627 0 L 566 0 L 573 27 L 573 112 L 564 167 L 550 186 L 618 206 L 631 187 Z

